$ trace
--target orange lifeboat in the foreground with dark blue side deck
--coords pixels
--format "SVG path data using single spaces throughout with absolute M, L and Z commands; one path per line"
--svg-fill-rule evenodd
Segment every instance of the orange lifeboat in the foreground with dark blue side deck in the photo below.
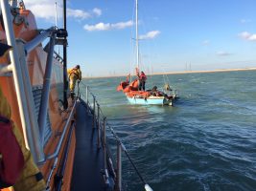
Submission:
M 0 190 L 123 190 L 126 147 L 87 86 L 84 100 L 79 86 L 70 96 L 65 16 L 64 29 L 38 30 L 23 1 L 0 3 Z M 117 142 L 117 159 L 106 127 Z

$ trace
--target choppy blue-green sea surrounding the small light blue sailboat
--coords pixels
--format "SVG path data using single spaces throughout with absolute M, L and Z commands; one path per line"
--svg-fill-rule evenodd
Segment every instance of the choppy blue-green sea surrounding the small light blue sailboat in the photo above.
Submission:
M 121 80 L 82 83 L 154 191 L 256 190 L 256 71 L 148 75 L 146 88 L 177 91 L 174 106 L 131 105 L 116 91 Z M 124 189 L 145 190 L 122 158 Z

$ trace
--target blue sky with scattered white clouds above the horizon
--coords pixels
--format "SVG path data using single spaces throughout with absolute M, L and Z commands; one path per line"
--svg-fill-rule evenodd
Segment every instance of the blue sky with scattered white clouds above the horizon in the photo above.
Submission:
M 38 28 L 62 28 L 62 0 L 24 0 Z M 255 0 L 139 0 L 146 73 L 256 67 Z M 67 1 L 68 67 L 83 76 L 132 73 L 135 1 Z M 58 47 L 56 48 L 58 50 Z

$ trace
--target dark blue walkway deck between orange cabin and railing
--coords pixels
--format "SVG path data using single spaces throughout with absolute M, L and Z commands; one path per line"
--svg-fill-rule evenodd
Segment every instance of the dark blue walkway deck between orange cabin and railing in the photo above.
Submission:
M 81 100 L 76 111 L 76 151 L 71 190 L 106 190 L 102 169 L 103 149 L 97 148 L 97 129 L 92 128 L 92 115 Z

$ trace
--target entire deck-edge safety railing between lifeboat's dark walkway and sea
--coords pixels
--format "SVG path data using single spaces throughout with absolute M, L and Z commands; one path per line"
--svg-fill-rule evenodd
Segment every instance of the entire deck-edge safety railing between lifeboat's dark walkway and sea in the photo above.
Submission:
M 152 191 L 150 185 L 146 182 L 146 180 L 140 174 L 138 168 L 136 167 L 133 160 L 130 158 L 128 154 L 128 150 L 124 145 L 121 138 L 118 137 L 117 133 L 114 131 L 112 126 L 107 122 L 107 119 L 101 109 L 101 105 L 96 99 L 96 96 L 92 93 L 90 88 L 86 86 L 82 81 L 80 83 L 85 90 L 81 92 L 80 85 L 78 85 L 78 97 L 83 98 L 85 105 L 87 107 L 87 112 L 92 115 L 92 128 L 97 128 L 97 147 L 98 149 L 103 148 L 104 152 L 104 166 L 103 175 L 105 179 L 105 184 L 111 186 L 111 180 L 109 173 L 114 178 L 114 189 L 115 191 L 121 191 L 122 189 L 122 152 L 125 153 L 128 161 L 132 165 L 135 173 L 138 175 L 139 179 L 144 183 L 144 188 L 146 191 Z M 116 160 L 113 162 L 113 157 L 108 147 L 107 143 L 107 130 L 112 135 L 114 140 L 116 141 Z M 107 134 L 109 135 L 109 134 Z

